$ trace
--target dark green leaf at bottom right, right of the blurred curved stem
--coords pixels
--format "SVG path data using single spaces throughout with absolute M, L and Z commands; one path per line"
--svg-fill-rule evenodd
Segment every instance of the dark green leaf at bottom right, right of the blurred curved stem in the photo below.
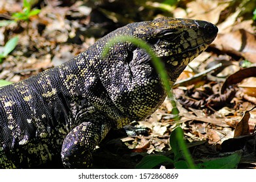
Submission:
M 203 162 L 197 164 L 201 169 L 234 169 L 237 168 L 240 162 L 241 153 L 234 153 L 221 159 Z

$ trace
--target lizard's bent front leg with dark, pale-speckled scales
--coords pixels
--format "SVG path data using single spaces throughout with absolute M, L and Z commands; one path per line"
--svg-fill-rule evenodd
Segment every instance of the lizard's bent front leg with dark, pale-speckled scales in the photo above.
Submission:
M 61 149 L 65 168 L 91 168 L 91 151 L 110 130 L 107 122 L 83 122 L 66 136 Z

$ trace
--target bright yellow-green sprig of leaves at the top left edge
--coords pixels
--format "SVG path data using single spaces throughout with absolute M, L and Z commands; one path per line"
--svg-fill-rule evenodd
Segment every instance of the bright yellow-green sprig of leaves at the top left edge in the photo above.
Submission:
M 12 18 L 15 21 L 20 21 L 20 20 L 25 20 L 25 21 L 29 21 L 29 18 L 31 16 L 35 16 L 37 14 L 40 13 L 39 9 L 33 9 L 31 10 L 31 3 L 28 2 L 27 0 L 23 1 L 23 9 L 22 12 L 16 12 L 14 14 L 12 14 Z

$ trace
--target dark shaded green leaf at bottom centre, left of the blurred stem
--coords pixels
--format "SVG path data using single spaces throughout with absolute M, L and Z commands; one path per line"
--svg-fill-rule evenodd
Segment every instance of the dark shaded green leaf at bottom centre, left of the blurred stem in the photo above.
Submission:
M 155 166 L 163 163 L 173 164 L 172 159 L 165 155 L 148 155 L 136 164 L 136 169 L 152 169 Z

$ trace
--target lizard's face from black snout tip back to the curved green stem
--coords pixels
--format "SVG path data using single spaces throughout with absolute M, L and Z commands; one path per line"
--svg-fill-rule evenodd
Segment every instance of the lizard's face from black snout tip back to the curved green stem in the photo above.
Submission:
M 133 34 L 150 44 L 174 81 L 185 66 L 214 41 L 217 31 L 208 21 L 157 18 L 142 22 Z

